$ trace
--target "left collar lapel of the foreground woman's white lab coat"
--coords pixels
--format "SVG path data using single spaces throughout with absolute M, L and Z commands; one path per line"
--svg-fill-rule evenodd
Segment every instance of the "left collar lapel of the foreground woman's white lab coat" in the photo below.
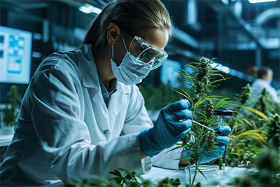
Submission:
M 83 44 L 77 50 L 78 66 L 82 72 L 83 85 L 87 88 L 99 88 L 97 67 L 92 54 L 92 45 Z

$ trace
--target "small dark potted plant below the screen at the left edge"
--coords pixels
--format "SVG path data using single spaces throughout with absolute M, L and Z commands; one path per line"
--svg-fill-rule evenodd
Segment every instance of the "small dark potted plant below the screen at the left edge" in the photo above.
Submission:
M 13 134 L 17 123 L 21 99 L 16 85 L 11 86 L 8 96 L 10 96 L 10 106 L 6 105 L 3 110 L 3 134 Z

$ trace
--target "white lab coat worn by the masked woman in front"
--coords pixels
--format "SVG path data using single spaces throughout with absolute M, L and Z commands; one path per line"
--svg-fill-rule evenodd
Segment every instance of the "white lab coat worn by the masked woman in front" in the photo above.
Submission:
M 144 174 L 139 132 L 153 126 L 136 85 L 118 83 L 108 108 L 99 85 L 91 45 L 57 52 L 40 64 L 24 98 L 13 140 L 1 164 L 1 186 L 63 185 L 113 169 Z M 179 168 L 178 151 L 153 158 Z

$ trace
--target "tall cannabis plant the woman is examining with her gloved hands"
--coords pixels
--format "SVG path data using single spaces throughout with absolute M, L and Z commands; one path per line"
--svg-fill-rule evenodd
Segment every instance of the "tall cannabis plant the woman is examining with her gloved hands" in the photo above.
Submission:
M 212 67 L 212 64 L 214 64 L 212 60 L 202 57 L 200 62 L 191 62 L 186 65 L 194 69 L 194 72 L 183 69 L 175 70 L 175 72 L 186 78 L 189 88 L 181 88 L 181 91 L 172 88 L 172 90 L 190 101 L 190 110 L 193 112 L 191 132 L 186 137 L 183 137 L 181 144 L 177 144 L 178 146 L 174 148 L 180 148 L 179 153 L 188 151 L 186 157 L 179 159 L 188 161 L 189 174 L 190 166 L 195 166 L 193 178 L 192 176 L 189 177 L 189 182 L 192 185 L 195 182 L 197 172 L 204 176 L 199 169 L 202 160 L 209 151 L 216 151 L 213 148 L 218 144 L 215 141 L 218 134 L 209 130 L 212 127 L 211 123 L 214 121 L 214 111 L 222 106 L 232 104 L 232 102 L 228 101 L 228 97 L 211 95 L 211 91 L 218 86 L 216 83 L 226 79 L 223 75 L 219 74 L 221 71 L 216 70 L 216 67 Z M 217 77 L 220 78 L 217 79 Z M 203 124 L 204 127 L 197 125 L 195 122 Z

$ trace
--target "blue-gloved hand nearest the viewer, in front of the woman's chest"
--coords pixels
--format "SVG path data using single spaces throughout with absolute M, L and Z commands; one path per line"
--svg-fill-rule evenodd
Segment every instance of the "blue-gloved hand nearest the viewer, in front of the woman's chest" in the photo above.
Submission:
M 190 132 L 193 114 L 189 110 L 188 99 L 181 99 L 166 106 L 160 111 L 154 127 L 142 130 L 139 134 L 142 151 L 150 157 L 163 149 L 174 146 L 182 137 Z

